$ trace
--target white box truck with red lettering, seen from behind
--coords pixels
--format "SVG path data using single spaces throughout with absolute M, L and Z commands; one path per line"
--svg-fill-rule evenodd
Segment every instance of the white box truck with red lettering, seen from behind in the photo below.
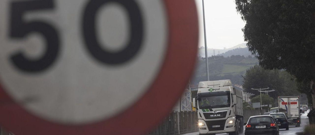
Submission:
M 300 112 L 300 97 L 278 97 L 279 113 L 287 115 L 289 126 L 300 126 L 301 112 Z

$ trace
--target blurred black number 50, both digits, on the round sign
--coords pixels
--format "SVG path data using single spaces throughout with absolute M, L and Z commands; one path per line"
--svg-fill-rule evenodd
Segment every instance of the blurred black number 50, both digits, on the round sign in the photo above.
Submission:
M 43 21 L 23 21 L 27 11 L 54 9 L 54 0 L 15 1 L 11 3 L 10 37 L 25 38 L 31 32 L 38 32 L 46 39 L 46 51 L 38 59 L 28 59 L 22 52 L 11 56 L 14 65 L 24 72 L 40 72 L 49 68 L 59 53 L 60 41 L 56 29 Z M 121 4 L 128 11 L 130 37 L 127 46 L 118 51 L 104 50 L 97 41 L 95 33 L 95 15 L 101 6 L 107 3 Z M 90 0 L 84 9 L 83 38 L 89 53 L 98 61 L 105 64 L 117 65 L 133 58 L 142 46 L 143 21 L 140 9 L 134 0 Z

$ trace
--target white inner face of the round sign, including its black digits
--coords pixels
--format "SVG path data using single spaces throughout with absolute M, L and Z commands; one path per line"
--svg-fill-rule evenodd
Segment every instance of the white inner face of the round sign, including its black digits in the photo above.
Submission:
M 160 1 L 1 0 L 0 83 L 44 120 L 110 118 L 156 78 L 165 14 Z

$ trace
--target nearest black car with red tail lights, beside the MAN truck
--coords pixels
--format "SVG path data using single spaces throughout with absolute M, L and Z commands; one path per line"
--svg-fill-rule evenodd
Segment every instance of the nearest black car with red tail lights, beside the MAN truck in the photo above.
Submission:
M 279 135 L 279 127 L 272 116 L 251 116 L 245 125 L 245 135 Z

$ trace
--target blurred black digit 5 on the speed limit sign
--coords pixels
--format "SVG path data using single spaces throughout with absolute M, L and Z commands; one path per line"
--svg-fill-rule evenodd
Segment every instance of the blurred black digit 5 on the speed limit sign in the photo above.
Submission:
M 24 72 L 39 72 L 47 69 L 57 58 L 59 51 L 59 38 L 57 31 L 46 22 L 23 21 L 27 11 L 54 9 L 53 0 L 15 1 L 11 3 L 10 37 L 24 38 L 31 32 L 38 32 L 45 37 L 47 44 L 43 56 L 37 59 L 28 59 L 22 52 L 11 56 L 14 65 Z

